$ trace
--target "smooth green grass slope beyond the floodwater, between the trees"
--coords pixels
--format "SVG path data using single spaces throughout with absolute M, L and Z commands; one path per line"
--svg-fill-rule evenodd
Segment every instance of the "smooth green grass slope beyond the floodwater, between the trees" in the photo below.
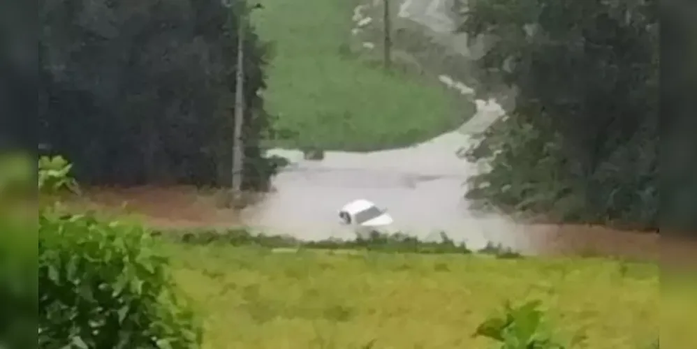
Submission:
M 453 130 L 471 117 L 425 77 L 386 73 L 355 59 L 348 40 L 355 1 L 268 0 L 256 30 L 274 46 L 267 109 L 294 133 L 281 147 L 369 151 Z

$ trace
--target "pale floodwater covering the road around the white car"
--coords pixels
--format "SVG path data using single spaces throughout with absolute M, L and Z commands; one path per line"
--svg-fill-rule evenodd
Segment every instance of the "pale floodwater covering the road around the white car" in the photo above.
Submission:
M 439 232 L 471 248 L 487 242 L 530 250 L 522 227 L 508 218 L 480 216 L 464 200 L 467 178 L 476 165 L 457 157 L 469 134 L 481 131 L 503 114 L 495 104 L 480 111 L 460 130 L 404 149 L 350 153 L 328 151 L 321 161 L 304 160 L 302 151 L 272 149 L 291 161 L 274 179 L 277 192 L 246 209 L 247 225 L 267 233 L 300 239 L 353 239 L 338 223 L 337 211 L 351 200 L 365 198 L 388 209 L 395 228 L 432 239 Z

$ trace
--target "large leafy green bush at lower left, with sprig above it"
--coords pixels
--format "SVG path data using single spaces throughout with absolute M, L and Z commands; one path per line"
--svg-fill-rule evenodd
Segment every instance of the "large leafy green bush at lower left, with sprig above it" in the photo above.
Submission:
M 72 183 L 69 170 L 43 158 L 41 191 Z M 144 228 L 61 215 L 54 205 L 41 208 L 38 223 L 39 348 L 200 346 L 201 327 Z

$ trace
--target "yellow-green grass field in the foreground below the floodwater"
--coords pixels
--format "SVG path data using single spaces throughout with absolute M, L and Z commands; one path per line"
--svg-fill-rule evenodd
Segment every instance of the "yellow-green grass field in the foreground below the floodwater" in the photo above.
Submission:
M 576 341 L 571 348 L 647 348 L 659 333 L 651 264 L 180 244 L 170 252 L 211 349 L 492 348 L 471 336 L 476 327 L 506 300 L 529 299 L 543 302 L 555 338 Z

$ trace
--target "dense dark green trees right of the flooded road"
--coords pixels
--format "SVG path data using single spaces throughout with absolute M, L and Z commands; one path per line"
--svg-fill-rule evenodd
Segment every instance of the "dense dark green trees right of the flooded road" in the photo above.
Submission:
M 462 18 L 470 36 L 492 38 L 483 71 L 518 89 L 515 109 L 469 152 L 490 168 L 467 195 L 553 221 L 656 230 L 657 1 L 471 0 Z

